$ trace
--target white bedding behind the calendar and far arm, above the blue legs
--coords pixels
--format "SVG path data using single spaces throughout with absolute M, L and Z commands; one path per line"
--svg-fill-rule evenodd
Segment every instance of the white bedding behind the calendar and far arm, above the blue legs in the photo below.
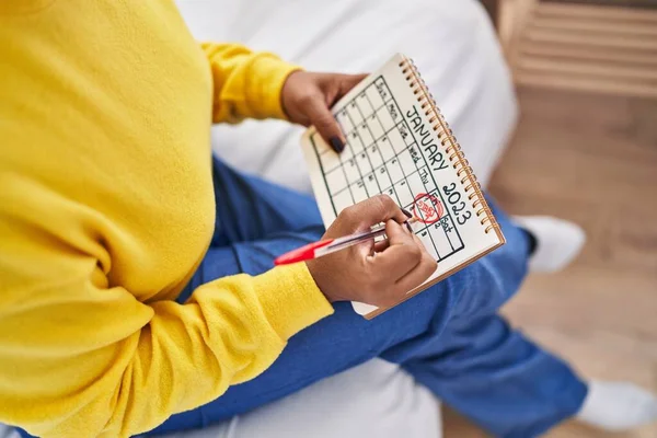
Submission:
M 516 122 L 494 30 L 475 0 L 178 0 L 198 39 L 240 42 L 309 70 L 369 72 L 395 51 L 423 78 L 485 185 Z M 234 166 L 310 193 L 302 128 L 249 120 L 217 126 L 215 150 Z

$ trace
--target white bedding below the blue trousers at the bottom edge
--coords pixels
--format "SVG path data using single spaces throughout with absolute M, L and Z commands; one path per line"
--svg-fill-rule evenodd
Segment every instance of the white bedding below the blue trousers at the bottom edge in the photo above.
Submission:
M 394 364 L 369 360 L 276 403 L 165 438 L 440 438 L 439 404 Z

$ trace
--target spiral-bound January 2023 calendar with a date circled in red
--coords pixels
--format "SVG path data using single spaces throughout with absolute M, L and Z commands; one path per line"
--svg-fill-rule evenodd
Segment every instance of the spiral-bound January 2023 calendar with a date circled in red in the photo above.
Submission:
M 387 194 L 413 212 L 413 231 L 438 262 L 407 298 L 504 244 L 504 235 L 419 72 L 395 55 L 333 108 L 347 142 L 336 153 L 313 128 L 302 150 L 326 227 L 339 212 Z M 406 299 L 407 299 L 406 298 Z M 354 303 L 373 318 L 385 309 Z

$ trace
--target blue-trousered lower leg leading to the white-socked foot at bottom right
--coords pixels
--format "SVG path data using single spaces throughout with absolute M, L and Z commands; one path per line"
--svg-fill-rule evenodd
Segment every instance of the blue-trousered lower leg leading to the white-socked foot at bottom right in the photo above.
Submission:
M 535 437 L 574 416 L 587 385 L 499 315 L 453 318 L 403 367 L 495 436 Z

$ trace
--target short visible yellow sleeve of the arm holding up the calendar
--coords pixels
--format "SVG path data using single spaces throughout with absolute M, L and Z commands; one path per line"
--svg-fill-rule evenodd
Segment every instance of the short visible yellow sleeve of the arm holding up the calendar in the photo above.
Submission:
M 269 53 L 254 53 L 239 44 L 201 44 L 214 82 L 215 123 L 250 118 L 280 118 L 280 91 L 287 77 L 300 68 Z

